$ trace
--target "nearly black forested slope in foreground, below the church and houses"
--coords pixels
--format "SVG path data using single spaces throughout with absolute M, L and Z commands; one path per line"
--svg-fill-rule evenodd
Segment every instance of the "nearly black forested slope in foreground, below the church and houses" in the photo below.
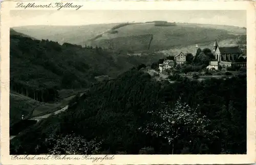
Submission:
M 11 154 L 246 153 L 246 76 L 170 84 L 144 67 L 77 95 L 17 135 Z

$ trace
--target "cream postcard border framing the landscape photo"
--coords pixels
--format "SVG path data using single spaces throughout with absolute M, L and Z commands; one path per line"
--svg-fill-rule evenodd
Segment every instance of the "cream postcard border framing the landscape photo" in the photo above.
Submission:
M 20 1 L 21 2 L 21 1 Z M 24 1 L 25 2 L 25 1 Z M 28 1 L 26 1 L 28 2 Z M 33 1 L 35 2 L 35 1 Z M 36 1 L 42 5 L 49 1 Z M 56 1 L 55 1 L 56 2 Z M 64 2 L 64 1 L 62 1 Z M 70 2 L 70 1 L 69 1 Z M 253 2 L 78 2 L 79 10 L 247 10 L 247 154 L 246 155 L 115 155 L 112 160 L 12 160 L 9 155 L 9 24 L 10 10 L 17 2 L 6 1 L 1 7 L 1 163 L 3 164 L 238 164 L 255 162 L 255 7 Z M 26 9 L 56 10 L 56 9 Z M 72 10 L 72 9 L 61 9 Z M 67 11 L 68 12 L 68 11 Z M 32 155 L 29 155 L 32 157 Z M 38 155 L 39 156 L 39 155 Z M 44 156 L 44 155 L 40 155 Z M 82 157 L 68 155 L 69 157 Z M 93 155 L 95 156 L 95 155 Z M 104 155 L 101 155 L 104 157 Z M 100 157 L 100 155 L 98 155 Z

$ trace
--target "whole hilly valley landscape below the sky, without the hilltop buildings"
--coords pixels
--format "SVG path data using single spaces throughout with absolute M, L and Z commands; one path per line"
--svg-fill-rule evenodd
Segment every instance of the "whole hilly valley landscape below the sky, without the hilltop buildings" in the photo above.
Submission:
M 246 29 L 165 21 L 13 27 L 10 154 L 246 153 L 246 72 L 209 69 L 215 40 L 244 46 Z

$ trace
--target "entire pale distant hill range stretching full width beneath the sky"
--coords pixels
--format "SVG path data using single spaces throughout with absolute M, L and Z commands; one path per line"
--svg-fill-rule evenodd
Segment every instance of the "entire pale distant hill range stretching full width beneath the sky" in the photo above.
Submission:
M 168 22 L 170 23 L 170 22 Z M 147 23 L 112 23 L 81 26 L 21 26 L 14 30 L 37 39 L 59 43 L 93 45 L 114 50 L 144 51 L 153 35 L 150 50 L 185 47 L 193 44 L 234 39 L 246 34 L 246 29 L 235 26 L 176 23 L 156 25 Z M 38 33 L 40 31 L 40 33 Z

